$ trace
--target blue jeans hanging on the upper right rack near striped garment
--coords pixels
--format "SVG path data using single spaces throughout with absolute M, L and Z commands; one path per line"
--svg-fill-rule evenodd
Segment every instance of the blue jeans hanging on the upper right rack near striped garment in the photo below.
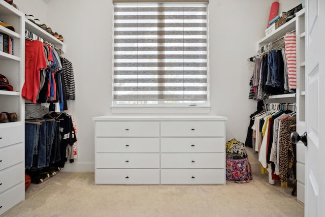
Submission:
M 279 87 L 280 77 L 278 70 L 278 53 L 276 50 L 271 50 L 268 54 L 268 79 L 266 85 Z

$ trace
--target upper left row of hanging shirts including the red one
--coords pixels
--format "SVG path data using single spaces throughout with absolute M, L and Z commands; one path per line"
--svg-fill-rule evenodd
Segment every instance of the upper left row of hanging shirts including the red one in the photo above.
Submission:
M 75 100 L 71 62 L 60 57 L 53 45 L 42 43 L 44 40 L 35 34 L 27 31 L 26 38 L 35 41 L 26 40 L 25 43 L 26 73 L 22 97 L 32 103 L 51 104 L 51 111 L 68 110 L 67 99 Z

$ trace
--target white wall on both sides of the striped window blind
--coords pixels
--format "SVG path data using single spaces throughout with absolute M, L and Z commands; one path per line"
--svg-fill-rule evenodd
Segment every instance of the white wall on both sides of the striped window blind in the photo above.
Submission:
M 78 159 L 73 164 L 67 163 L 64 170 L 93 171 L 92 117 L 112 115 L 112 2 L 56 0 L 50 1 L 47 8 L 29 2 L 15 0 L 21 10 L 28 9 L 35 17 L 47 11 L 46 24 L 64 37 L 67 44 L 64 57 L 73 63 L 76 101 L 68 106 L 78 130 Z M 211 114 L 229 118 L 227 140 L 245 141 L 249 115 L 256 110 L 256 102 L 248 99 L 253 64 L 247 58 L 255 54 L 256 42 L 265 36 L 272 2 L 210 0 L 209 3 Z M 300 4 L 297 0 L 279 2 L 279 12 Z M 252 164 L 257 164 L 256 154 L 250 153 L 249 158 Z

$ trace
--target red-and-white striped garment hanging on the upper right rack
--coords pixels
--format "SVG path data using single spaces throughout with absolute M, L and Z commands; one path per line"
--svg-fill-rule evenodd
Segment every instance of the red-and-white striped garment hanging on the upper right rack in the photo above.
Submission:
M 289 89 L 296 89 L 296 33 L 287 33 L 284 36 L 285 56 L 288 70 Z

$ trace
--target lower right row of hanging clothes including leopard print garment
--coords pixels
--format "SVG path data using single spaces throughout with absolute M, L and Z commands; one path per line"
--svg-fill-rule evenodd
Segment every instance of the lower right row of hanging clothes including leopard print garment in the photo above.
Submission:
M 266 104 L 265 110 L 253 113 L 250 116 L 250 125 L 253 121 L 252 136 L 247 135 L 247 138 L 253 140 L 254 151 L 258 152 L 258 161 L 263 166 L 262 173 L 268 168 L 272 179 L 280 179 L 282 188 L 287 187 L 288 171 L 295 167 L 295 152 L 290 133 L 295 131 L 296 104 L 290 104 L 293 111 L 284 110 L 284 105 L 288 104 Z

